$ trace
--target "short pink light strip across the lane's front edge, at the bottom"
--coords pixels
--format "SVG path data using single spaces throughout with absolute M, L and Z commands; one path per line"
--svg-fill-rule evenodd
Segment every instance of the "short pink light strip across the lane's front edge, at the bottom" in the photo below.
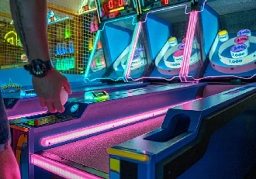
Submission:
M 61 177 L 67 179 L 100 179 L 101 177 L 96 177 L 95 175 L 88 174 L 85 171 L 69 167 L 67 165 L 58 163 L 54 160 L 47 159 L 46 157 L 41 157 L 36 154 L 31 155 L 31 164 L 41 167 L 44 170 L 50 171 L 51 173 L 57 174 Z

